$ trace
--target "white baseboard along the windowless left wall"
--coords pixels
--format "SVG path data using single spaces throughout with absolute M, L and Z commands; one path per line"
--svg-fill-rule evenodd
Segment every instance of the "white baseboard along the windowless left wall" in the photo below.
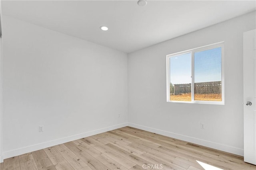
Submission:
M 88 132 L 85 132 L 85 133 L 80 133 L 80 134 L 77 134 L 77 135 L 72 135 L 72 136 L 69 136 L 69 137 L 64 137 L 64 138 L 56 139 L 56 140 L 53 140 L 53 141 L 39 143 L 39 144 L 36 144 L 36 145 L 31 145 L 31 146 L 23 147 L 23 148 L 19 148 L 19 149 L 9 150 L 7 152 L 2 153 L 1 158 L 0 158 L 0 162 L 3 162 L 3 160 L 6 159 L 6 158 L 10 158 L 10 157 L 13 157 L 13 156 L 18 156 L 18 155 L 21 155 L 21 154 L 33 152 L 33 151 L 48 148 L 48 147 L 52 147 L 52 146 L 55 146 L 55 145 L 59 145 L 59 144 L 62 144 L 62 143 L 74 141 L 74 140 L 77 140 L 77 139 L 81 139 L 81 138 L 84 138 L 84 137 L 96 135 L 96 134 L 99 134 L 99 133 L 112 131 L 114 129 L 118 129 L 118 128 L 125 127 L 125 126 L 128 126 L 128 123 L 121 123 L 121 124 L 118 124 L 118 125 L 105 127 L 105 128 L 102 128 L 102 129 L 96 129 L 94 131 L 88 131 Z

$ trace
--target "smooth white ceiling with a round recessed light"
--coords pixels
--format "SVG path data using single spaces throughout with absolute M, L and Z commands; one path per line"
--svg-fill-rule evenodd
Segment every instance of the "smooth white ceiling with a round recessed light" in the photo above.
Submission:
M 3 15 L 130 53 L 256 10 L 256 1 L 2 1 Z M 108 31 L 99 27 L 107 25 Z

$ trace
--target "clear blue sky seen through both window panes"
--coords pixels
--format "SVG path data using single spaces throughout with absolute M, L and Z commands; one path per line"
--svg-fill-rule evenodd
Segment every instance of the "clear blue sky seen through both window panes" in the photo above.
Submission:
M 195 83 L 221 81 L 221 47 L 194 53 L 194 76 Z M 191 53 L 170 58 L 170 82 L 191 83 Z

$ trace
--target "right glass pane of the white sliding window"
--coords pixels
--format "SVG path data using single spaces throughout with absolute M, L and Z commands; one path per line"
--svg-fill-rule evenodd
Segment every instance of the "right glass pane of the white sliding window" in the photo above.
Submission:
M 194 53 L 194 100 L 222 101 L 221 47 Z

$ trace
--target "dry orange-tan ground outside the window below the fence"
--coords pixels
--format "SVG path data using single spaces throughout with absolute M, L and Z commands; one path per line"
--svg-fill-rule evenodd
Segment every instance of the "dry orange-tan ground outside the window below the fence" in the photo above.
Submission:
M 171 101 L 191 101 L 191 93 L 182 95 L 171 95 Z M 194 100 L 222 101 L 221 94 L 195 94 Z

